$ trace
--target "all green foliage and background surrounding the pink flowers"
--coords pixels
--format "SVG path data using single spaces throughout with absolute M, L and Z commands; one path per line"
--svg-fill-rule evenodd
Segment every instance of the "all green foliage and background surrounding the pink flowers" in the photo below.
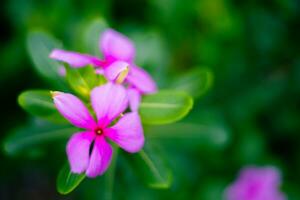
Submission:
M 49 106 L 49 91 L 72 91 L 87 100 L 90 86 L 103 79 L 86 81 L 91 68 L 69 69 L 48 54 L 64 46 L 101 56 L 97 37 L 108 25 L 133 38 L 137 65 L 161 88 L 144 97 L 144 105 L 165 91 L 162 103 L 189 103 L 169 110 L 167 118 L 161 109 L 141 108 L 152 148 L 136 155 L 118 150 L 107 174 L 82 181 L 66 198 L 216 200 L 251 164 L 279 167 L 284 193 L 299 199 L 296 0 L 11 0 L 1 9 L 0 199 L 64 198 L 54 185 L 76 130 Z M 61 67 L 67 79 L 59 75 Z M 17 105 L 18 95 L 29 115 Z M 177 121 L 191 109 L 188 95 L 193 109 Z M 151 173 L 156 168 L 159 173 Z M 77 183 L 58 191 L 71 192 Z

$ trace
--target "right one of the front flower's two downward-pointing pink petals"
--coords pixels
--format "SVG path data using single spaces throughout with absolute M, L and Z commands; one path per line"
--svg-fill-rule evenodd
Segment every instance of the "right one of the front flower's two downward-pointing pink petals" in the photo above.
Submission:
M 112 152 L 111 146 L 105 141 L 104 137 L 97 137 L 86 175 L 90 178 L 102 175 L 111 162 Z

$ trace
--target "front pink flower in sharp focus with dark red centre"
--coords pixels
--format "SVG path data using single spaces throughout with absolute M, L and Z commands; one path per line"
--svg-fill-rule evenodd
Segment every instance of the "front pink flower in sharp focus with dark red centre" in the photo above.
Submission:
M 134 153 L 144 145 L 144 134 L 137 112 L 124 114 L 128 97 L 122 85 L 107 83 L 91 92 L 94 120 L 85 105 L 76 96 L 52 92 L 58 111 L 74 126 L 85 129 L 75 133 L 67 144 L 67 155 L 73 173 L 85 172 L 88 177 L 103 174 L 108 168 L 112 147 L 106 139 L 117 143 L 125 151 Z

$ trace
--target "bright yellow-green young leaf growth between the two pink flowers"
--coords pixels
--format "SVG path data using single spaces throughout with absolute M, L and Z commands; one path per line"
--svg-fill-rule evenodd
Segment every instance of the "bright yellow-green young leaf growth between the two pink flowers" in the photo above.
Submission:
M 70 87 L 80 96 L 89 99 L 90 91 L 99 83 L 98 75 L 92 66 L 87 66 L 79 69 L 66 67 L 67 81 Z

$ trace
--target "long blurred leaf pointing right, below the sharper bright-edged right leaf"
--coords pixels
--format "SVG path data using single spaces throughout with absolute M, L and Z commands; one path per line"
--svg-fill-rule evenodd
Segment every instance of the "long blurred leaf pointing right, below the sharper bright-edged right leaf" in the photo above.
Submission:
M 199 151 L 199 153 L 217 153 L 231 142 L 232 131 L 224 114 L 218 109 L 197 107 L 182 122 L 145 126 L 148 139 L 161 142 L 162 145 L 180 147 L 180 149 Z

